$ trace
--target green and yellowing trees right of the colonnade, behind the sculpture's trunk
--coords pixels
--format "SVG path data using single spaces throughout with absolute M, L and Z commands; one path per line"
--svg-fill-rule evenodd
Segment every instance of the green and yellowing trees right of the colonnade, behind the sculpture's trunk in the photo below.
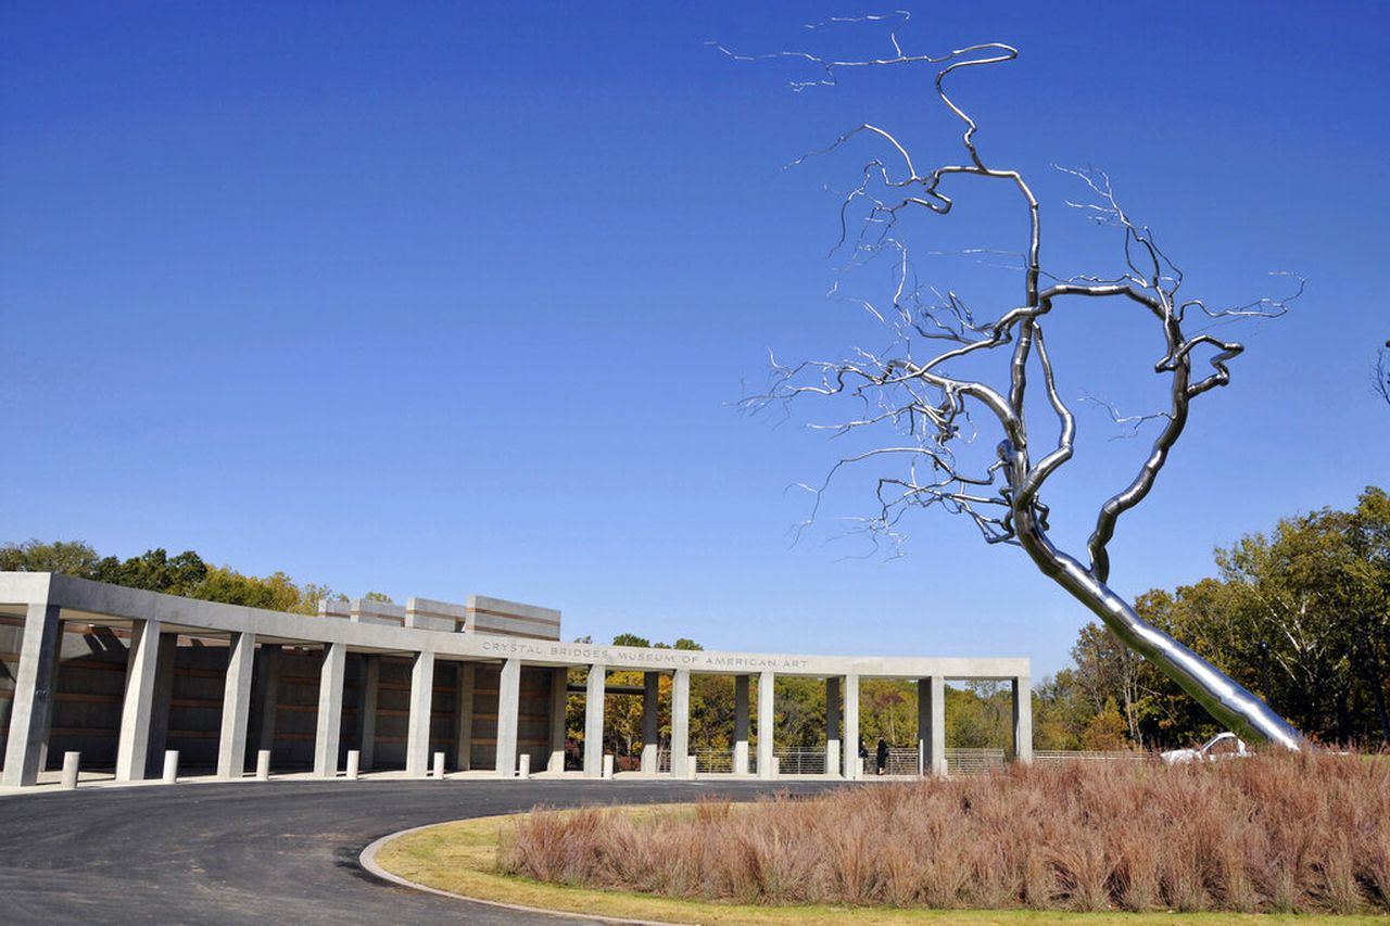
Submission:
M 1390 742 L 1390 496 L 1286 517 L 1216 551 L 1219 577 L 1154 590 L 1136 610 L 1209 659 L 1305 734 Z M 1040 685 L 1040 734 L 1072 742 L 1106 730 L 1113 702 L 1134 745 L 1183 745 L 1219 727 L 1176 684 L 1098 624 L 1081 628 L 1076 669 Z M 1093 723 L 1094 722 L 1094 723 Z M 1048 748 L 1041 747 L 1040 748 Z

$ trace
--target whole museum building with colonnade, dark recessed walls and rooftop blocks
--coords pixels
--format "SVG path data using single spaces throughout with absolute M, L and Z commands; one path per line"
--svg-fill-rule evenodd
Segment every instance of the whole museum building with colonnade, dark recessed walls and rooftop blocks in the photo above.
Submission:
M 1013 748 L 1031 761 L 1027 659 L 813 656 L 648 649 L 560 640 L 560 612 L 470 596 L 457 605 L 356 601 L 289 615 L 160 595 L 50 573 L 0 573 L 0 784 L 32 786 L 81 752 L 117 780 L 157 776 L 168 749 L 185 769 L 240 777 L 268 752 L 274 772 L 338 776 L 402 769 L 566 773 L 571 669 L 587 669 L 581 769 L 600 777 L 605 692 L 642 698 L 641 773 L 695 774 L 691 677 L 731 676 L 730 772 L 778 774 L 777 676 L 826 680 L 823 773 L 858 777 L 859 680 L 919 685 L 922 769 L 944 774 L 948 680 L 1013 687 Z M 638 670 L 639 688 L 607 673 Z M 657 749 L 662 676 L 670 734 Z M 842 736 L 842 731 L 847 734 Z M 756 752 L 749 754 L 751 733 Z M 663 761 L 663 756 L 667 761 Z M 610 773 L 610 772 L 609 772 Z

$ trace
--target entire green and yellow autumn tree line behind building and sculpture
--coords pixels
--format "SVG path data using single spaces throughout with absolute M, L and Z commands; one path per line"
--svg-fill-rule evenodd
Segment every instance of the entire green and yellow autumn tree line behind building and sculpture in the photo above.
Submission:
M 1390 744 L 1390 496 L 1369 487 L 1354 509 L 1322 509 L 1280 520 L 1216 549 L 1218 576 L 1136 599 L 1140 615 L 1184 640 L 1294 726 L 1327 742 L 1376 748 Z M 0 570 L 56 571 L 82 578 L 252 608 L 311 615 L 325 599 L 345 599 L 327 585 L 299 584 L 284 571 L 247 576 L 207 563 L 193 551 L 161 548 L 129 559 L 100 556 L 82 541 L 6 544 Z M 368 598 L 389 601 L 370 592 Z M 614 645 L 701 649 L 694 640 L 656 642 L 619 634 Z M 1073 666 L 1033 691 L 1038 749 L 1166 748 L 1219 731 L 1197 702 L 1105 627 L 1081 627 Z M 584 680 L 571 672 L 571 683 Z M 638 690 L 641 672 L 614 672 L 609 684 Z M 756 701 L 756 692 L 752 694 Z M 660 727 L 670 737 L 670 679 L 662 679 Z M 917 690 L 910 680 L 863 679 L 860 736 L 910 747 L 917 737 Z M 824 683 L 780 676 L 774 688 L 780 748 L 817 747 L 826 736 Z M 584 699 L 570 698 L 567 726 L 582 738 Z M 756 727 L 756 724 L 753 724 Z M 1006 687 L 973 683 L 947 690 L 947 745 L 1008 748 L 1012 704 Z M 692 749 L 730 749 L 734 681 L 691 679 Z M 756 740 L 756 730 L 752 731 Z M 641 697 L 605 702 L 605 748 L 639 752 Z

